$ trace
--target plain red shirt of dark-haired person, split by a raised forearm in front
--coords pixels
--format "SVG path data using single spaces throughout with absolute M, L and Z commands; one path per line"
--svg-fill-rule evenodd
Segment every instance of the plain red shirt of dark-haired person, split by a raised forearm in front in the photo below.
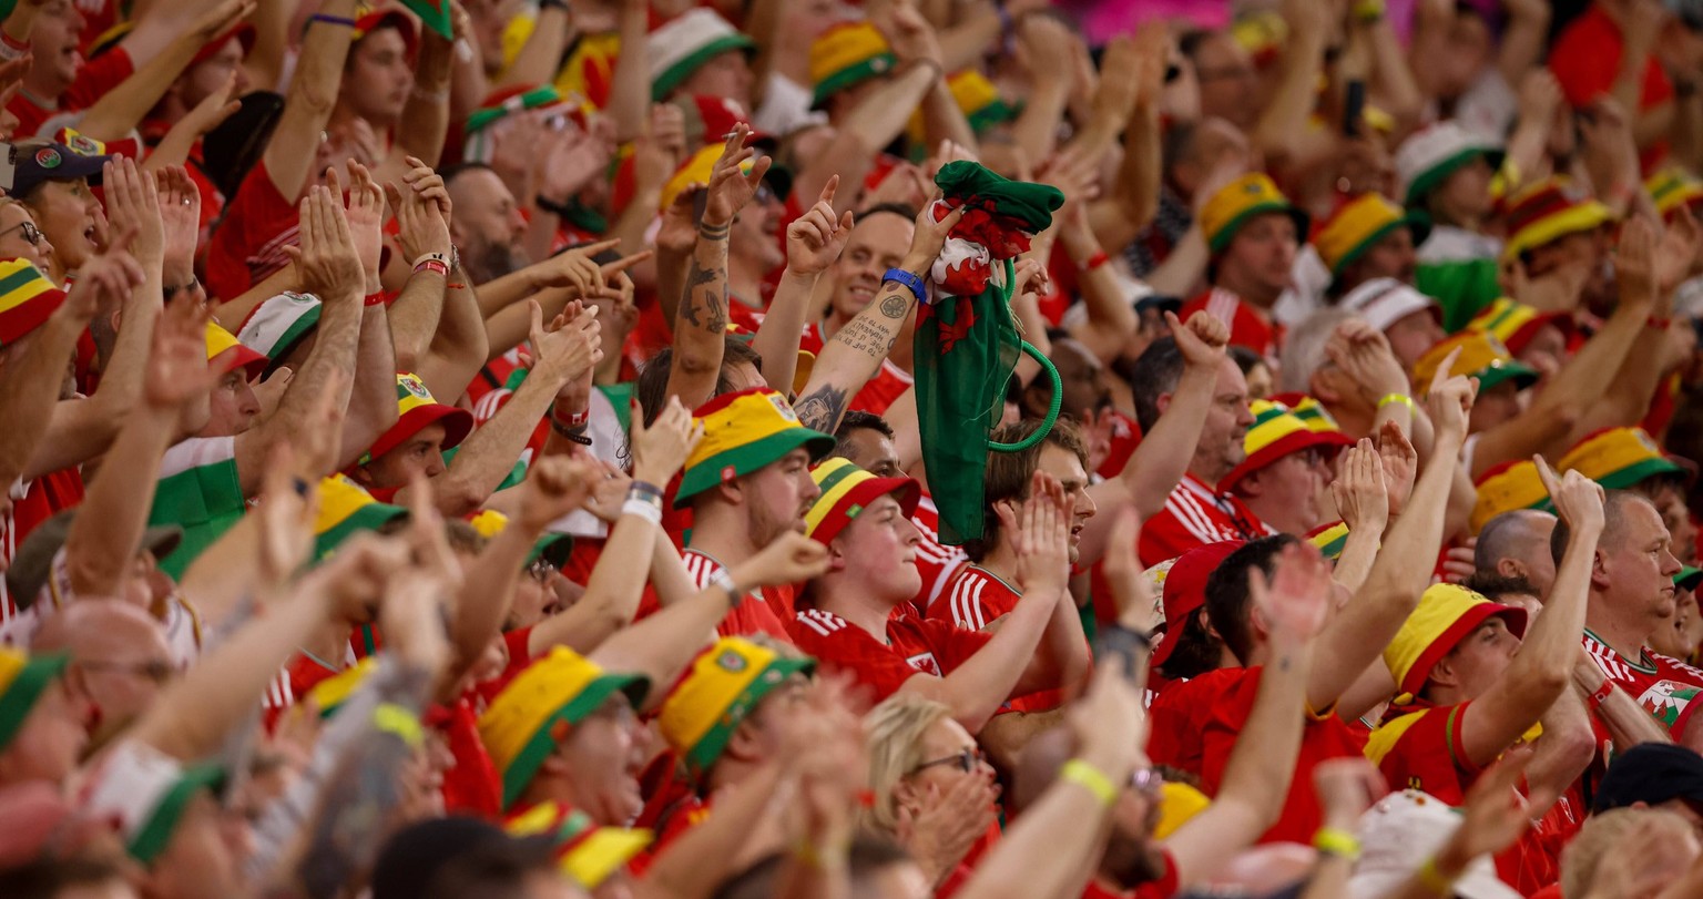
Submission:
M 1231 671 L 1231 674 L 1214 679 L 1214 684 L 1223 688 L 1216 696 L 1202 696 L 1202 700 L 1211 700 L 1207 701 L 1211 710 L 1206 717 L 1206 730 L 1201 734 L 1201 790 L 1213 797 L 1218 795 L 1230 753 L 1236 747 L 1236 737 L 1248 724 L 1253 696 L 1260 686 L 1260 667 Z M 1199 679 L 1196 678 L 1196 681 Z M 1296 759 L 1294 778 L 1289 782 L 1282 816 L 1272 829 L 1260 836 L 1260 843 L 1311 843 L 1313 833 L 1323 824 L 1318 795 L 1313 792 L 1313 768 L 1333 758 L 1357 758 L 1361 751 L 1359 737 L 1333 712 L 1322 717 L 1308 715 L 1306 727 L 1301 730 L 1301 754 Z

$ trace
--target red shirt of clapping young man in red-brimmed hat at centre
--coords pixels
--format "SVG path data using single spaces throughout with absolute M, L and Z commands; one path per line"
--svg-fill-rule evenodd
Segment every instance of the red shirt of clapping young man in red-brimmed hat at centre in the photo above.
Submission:
M 991 640 L 978 630 L 908 615 L 906 606 L 887 616 L 886 640 L 816 608 L 799 610 L 788 630 L 794 645 L 806 656 L 816 657 L 828 671 L 850 673 L 857 683 L 874 690 L 874 701 L 897 693 L 916 674 L 950 674 Z

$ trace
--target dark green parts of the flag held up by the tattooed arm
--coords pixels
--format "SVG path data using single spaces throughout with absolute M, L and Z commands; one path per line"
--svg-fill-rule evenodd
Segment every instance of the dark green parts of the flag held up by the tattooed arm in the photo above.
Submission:
M 935 184 L 954 206 L 976 206 L 1015 220 L 1024 232 L 1052 225 L 1064 194 L 1046 184 L 1000 177 L 974 162 L 950 162 Z M 988 434 L 1005 412 L 1005 387 L 1022 339 L 1012 318 L 1015 266 L 1005 266 L 979 296 L 938 296 L 916 313 L 916 417 L 928 485 L 940 507 L 940 540 L 981 536 Z

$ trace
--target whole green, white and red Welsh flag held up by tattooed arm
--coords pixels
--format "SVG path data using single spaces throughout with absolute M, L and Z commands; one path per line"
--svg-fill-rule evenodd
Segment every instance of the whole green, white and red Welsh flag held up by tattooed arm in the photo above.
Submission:
M 916 415 L 923 463 L 940 507 L 940 540 L 981 536 L 988 434 L 1005 410 L 1005 385 L 1022 339 L 1012 318 L 1015 259 L 1052 223 L 1064 194 L 1008 180 L 974 162 L 935 175 L 945 198 L 940 221 L 966 206 L 930 272 L 933 289 L 916 312 Z

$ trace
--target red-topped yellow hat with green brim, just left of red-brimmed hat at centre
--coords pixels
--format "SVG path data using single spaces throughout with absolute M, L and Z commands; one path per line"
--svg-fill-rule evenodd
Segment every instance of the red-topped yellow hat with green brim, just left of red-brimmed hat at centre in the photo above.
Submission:
M 690 506 L 688 501 L 703 490 L 749 475 L 800 446 L 811 453 L 811 461 L 834 448 L 833 436 L 799 424 L 787 398 L 766 387 L 722 393 L 700 405 L 693 417 L 703 424 L 703 439 L 686 458 L 679 492 L 674 494 L 676 509 Z

